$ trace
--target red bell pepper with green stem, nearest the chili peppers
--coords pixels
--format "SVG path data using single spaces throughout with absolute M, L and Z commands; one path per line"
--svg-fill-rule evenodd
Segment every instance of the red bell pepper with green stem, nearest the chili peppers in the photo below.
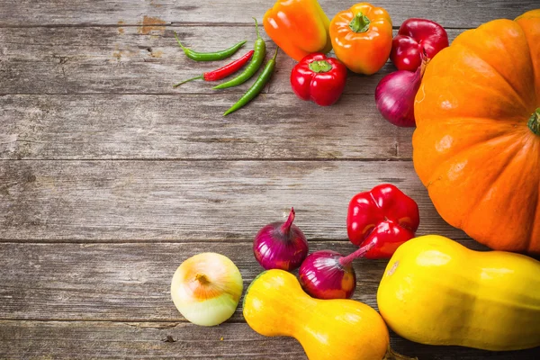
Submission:
M 302 58 L 291 73 L 294 94 L 320 106 L 336 103 L 346 80 L 347 67 L 337 58 L 327 58 L 320 52 Z

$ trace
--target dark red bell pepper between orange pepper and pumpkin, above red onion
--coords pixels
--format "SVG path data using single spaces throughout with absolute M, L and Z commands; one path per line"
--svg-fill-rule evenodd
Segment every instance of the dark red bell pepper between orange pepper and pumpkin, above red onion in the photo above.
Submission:
M 426 19 L 409 19 L 401 24 L 392 40 L 390 59 L 398 70 L 416 71 L 422 54 L 433 58 L 448 47 L 448 34 L 438 23 Z

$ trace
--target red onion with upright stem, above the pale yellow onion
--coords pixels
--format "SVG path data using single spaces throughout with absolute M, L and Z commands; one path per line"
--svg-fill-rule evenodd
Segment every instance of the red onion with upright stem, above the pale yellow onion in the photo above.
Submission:
M 294 221 L 294 209 L 285 222 L 273 222 L 260 229 L 253 241 L 253 253 L 266 270 L 294 270 L 308 255 L 308 241 Z

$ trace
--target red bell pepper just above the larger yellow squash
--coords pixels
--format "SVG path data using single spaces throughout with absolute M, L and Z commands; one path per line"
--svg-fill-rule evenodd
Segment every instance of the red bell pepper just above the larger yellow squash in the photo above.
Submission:
M 374 243 L 366 258 L 390 258 L 396 248 L 414 238 L 419 228 L 419 206 L 392 184 L 380 184 L 357 193 L 349 203 L 349 240 L 364 247 Z

